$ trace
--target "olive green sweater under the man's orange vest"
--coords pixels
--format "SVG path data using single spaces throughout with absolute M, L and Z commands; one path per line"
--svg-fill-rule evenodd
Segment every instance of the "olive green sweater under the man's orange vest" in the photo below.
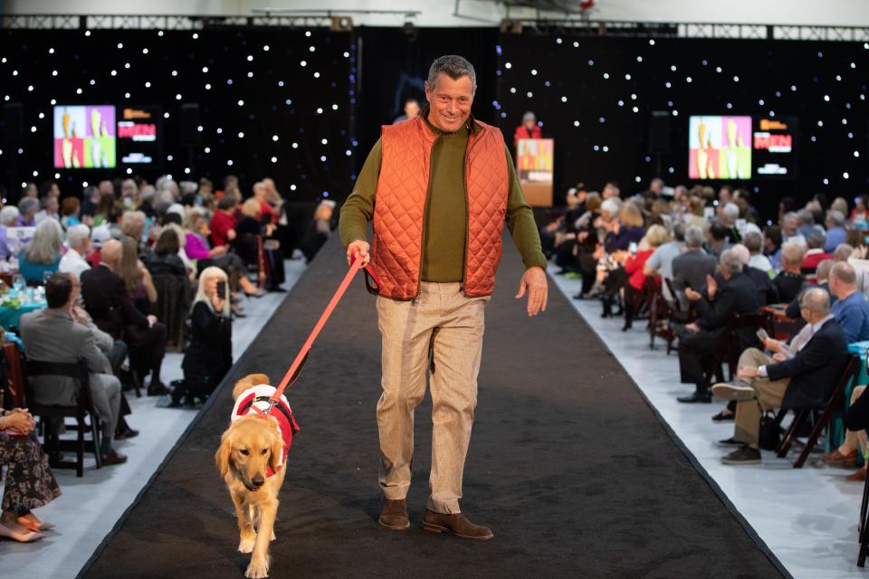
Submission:
M 425 119 L 428 123 L 428 119 Z M 432 151 L 428 209 L 425 214 L 425 247 L 422 279 L 424 281 L 462 281 L 468 207 L 464 192 L 464 160 L 468 147 L 468 128 L 447 133 L 431 123 L 438 135 Z M 356 180 L 353 193 L 341 207 L 339 223 L 344 247 L 366 238 L 368 221 L 374 216 L 377 180 L 383 158 L 379 140 L 368 154 Z M 507 227 L 519 249 L 525 268 L 546 269 L 546 256 L 540 249 L 540 233 L 531 207 L 525 202 L 510 151 L 504 147 L 510 180 L 507 198 Z

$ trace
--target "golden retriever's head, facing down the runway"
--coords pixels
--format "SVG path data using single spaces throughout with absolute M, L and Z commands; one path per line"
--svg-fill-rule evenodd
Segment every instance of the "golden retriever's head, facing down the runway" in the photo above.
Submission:
M 282 452 L 283 441 L 274 418 L 244 416 L 233 421 L 220 437 L 215 462 L 220 476 L 232 473 L 246 489 L 259 490 L 269 467 L 278 470 Z

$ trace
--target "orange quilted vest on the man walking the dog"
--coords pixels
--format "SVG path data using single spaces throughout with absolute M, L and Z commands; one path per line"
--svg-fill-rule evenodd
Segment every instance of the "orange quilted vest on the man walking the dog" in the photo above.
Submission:
M 478 120 L 468 138 L 464 295 L 492 295 L 507 213 L 507 157 L 501 130 Z M 383 128 L 383 159 L 374 208 L 372 265 L 379 294 L 415 299 L 422 271 L 425 206 L 437 135 L 421 117 Z

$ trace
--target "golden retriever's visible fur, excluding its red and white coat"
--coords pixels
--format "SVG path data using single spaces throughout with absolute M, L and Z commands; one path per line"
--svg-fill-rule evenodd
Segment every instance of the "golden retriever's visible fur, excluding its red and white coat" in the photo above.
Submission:
M 259 384 L 269 384 L 263 374 L 247 375 L 233 388 L 233 399 Z M 272 557 L 269 542 L 274 539 L 274 520 L 278 513 L 278 491 L 286 468 L 281 468 L 283 441 L 276 419 L 271 414 L 263 420 L 253 413 L 234 420 L 221 436 L 215 462 L 229 487 L 238 517 L 238 550 L 251 553 L 245 577 L 269 575 Z M 267 470 L 274 475 L 266 475 Z

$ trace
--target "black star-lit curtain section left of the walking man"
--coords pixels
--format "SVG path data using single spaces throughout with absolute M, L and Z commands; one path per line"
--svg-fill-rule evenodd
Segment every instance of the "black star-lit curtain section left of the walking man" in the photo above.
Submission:
M 323 29 L 203 31 L 9 30 L 0 35 L 0 99 L 24 104 L 23 141 L 3 147 L 0 175 L 60 181 L 65 194 L 107 176 L 141 174 L 152 183 L 236 175 L 245 195 L 272 176 L 291 199 L 349 192 L 356 53 L 350 33 Z M 188 152 L 181 105 L 199 105 L 198 144 Z M 55 169 L 54 105 L 158 105 L 158 166 Z M 83 131 L 83 128 L 80 128 Z M 192 153 L 192 157 L 189 155 Z M 15 157 L 12 159 L 11 157 Z M 8 176 L 13 166 L 16 179 Z M 159 159 L 157 159 L 159 161 Z

